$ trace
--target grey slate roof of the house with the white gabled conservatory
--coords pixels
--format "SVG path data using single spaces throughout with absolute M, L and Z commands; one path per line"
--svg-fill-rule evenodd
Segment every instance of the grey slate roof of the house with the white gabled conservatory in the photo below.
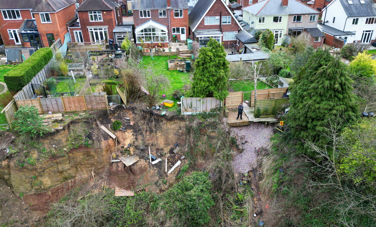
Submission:
M 188 1 L 171 0 L 171 9 L 188 9 Z M 132 9 L 167 9 L 167 0 L 132 0 Z

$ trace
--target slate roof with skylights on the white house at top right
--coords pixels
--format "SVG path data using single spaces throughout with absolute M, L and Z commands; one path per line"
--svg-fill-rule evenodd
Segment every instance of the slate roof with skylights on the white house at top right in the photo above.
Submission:
M 347 17 L 376 16 L 376 7 L 372 0 L 364 0 L 365 4 L 361 4 L 359 0 L 353 0 L 353 4 L 349 4 L 347 0 L 339 1 Z

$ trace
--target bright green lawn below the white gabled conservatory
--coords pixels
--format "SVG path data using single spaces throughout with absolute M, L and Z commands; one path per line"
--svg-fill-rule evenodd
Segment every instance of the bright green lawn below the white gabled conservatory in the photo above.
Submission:
M 173 59 L 176 56 L 153 56 L 155 60 L 153 60 L 150 56 L 144 56 L 142 62 L 140 62 L 140 65 L 152 66 L 157 74 L 165 75 L 168 80 L 170 80 L 170 87 L 164 87 L 160 95 L 165 94 L 166 99 L 174 101 L 174 106 L 168 107 L 168 111 L 174 111 L 177 109 L 176 102 L 178 100 L 174 99 L 172 93 L 174 90 L 182 89 L 185 84 L 190 83 L 190 74 L 187 72 L 179 72 L 177 70 L 169 71 L 167 63 L 168 57 Z M 160 101 L 163 100 L 164 99 L 161 98 Z

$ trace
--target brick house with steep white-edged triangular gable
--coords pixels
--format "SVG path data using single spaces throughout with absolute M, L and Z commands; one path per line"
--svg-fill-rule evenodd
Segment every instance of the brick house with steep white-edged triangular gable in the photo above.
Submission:
M 225 47 L 238 44 L 236 35 L 243 30 L 222 0 L 199 0 L 189 15 L 190 38 L 205 46 L 212 37 Z

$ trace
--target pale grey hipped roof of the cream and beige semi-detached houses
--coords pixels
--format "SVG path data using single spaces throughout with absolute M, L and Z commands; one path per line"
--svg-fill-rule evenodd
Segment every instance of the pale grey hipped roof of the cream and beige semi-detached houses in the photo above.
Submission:
M 282 7 L 281 0 L 263 0 L 247 6 L 243 8 L 243 10 L 253 15 L 260 16 L 320 13 L 304 3 L 298 2 L 297 0 L 288 0 L 288 5 L 286 7 Z

